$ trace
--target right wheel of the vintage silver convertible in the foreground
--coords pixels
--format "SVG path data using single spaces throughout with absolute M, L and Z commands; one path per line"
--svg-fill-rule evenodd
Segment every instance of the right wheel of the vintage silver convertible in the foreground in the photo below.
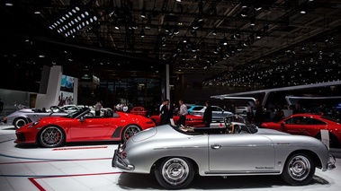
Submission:
M 292 154 L 286 161 L 281 174 L 283 180 L 292 186 L 302 186 L 310 183 L 315 174 L 315 163 L 305 153 Z

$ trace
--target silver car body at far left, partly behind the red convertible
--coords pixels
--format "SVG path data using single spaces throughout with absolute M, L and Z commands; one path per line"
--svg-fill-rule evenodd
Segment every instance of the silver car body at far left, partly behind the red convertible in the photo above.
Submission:
M 15 128 L 37 121 L 41 117 L 66 116 L 67 112 L 42 112 L 38 109 L 20 109 L 4 117 L 4 124 L 13 125 Z M 20 125 L 19 125 L 20 124 Z

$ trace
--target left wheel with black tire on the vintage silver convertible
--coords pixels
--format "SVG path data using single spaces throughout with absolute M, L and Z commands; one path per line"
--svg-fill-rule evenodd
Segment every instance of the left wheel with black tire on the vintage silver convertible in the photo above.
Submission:
M 158 184 L 166 189 L 188 187 L 195 175 L 192 162 L 179 157 L 158 162 L 154 172 Z

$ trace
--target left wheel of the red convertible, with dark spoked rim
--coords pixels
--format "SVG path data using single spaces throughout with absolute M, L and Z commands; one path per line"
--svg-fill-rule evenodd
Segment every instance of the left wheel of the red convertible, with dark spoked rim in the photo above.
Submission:
M 42 147 L 58 147 L 65 141 L 65 134 L 58 126 L 48 126 L 41 130 L 39 143 Z

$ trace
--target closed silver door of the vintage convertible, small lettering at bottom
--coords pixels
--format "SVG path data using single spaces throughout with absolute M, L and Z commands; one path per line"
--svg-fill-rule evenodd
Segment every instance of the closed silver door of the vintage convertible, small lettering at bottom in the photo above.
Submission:
M 262 135 L 210 135 L 209 156 L 211 172 L 247 173 L 274 170 L 274 145 Z

